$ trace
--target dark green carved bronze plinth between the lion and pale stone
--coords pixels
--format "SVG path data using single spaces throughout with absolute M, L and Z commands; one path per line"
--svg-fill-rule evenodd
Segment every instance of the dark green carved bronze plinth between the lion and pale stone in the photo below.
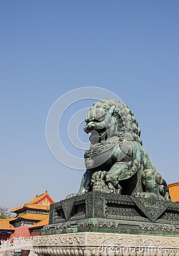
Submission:
M 41 236 L 78 232 L 179 237 L 179 204 L 101 192 L 51 204 Z

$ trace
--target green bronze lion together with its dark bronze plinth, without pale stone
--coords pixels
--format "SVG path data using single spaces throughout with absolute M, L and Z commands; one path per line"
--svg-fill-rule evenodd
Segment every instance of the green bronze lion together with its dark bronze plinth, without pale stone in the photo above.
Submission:
M 90 148 L 80 191 L 52 204 L 41 235 L 107 232 L 179 237 L 179 204 L 145 152 L 134 114 L 96 102 L 85 118 Z

